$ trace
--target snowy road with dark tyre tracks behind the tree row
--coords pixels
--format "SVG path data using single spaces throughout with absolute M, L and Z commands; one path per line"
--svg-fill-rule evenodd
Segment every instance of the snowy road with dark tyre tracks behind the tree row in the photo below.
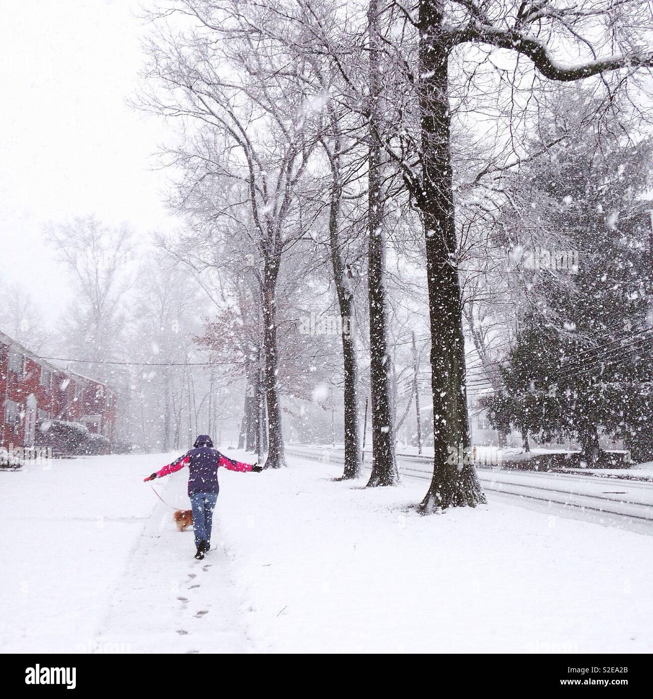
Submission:
M 343 461 L 342 449 L 337 448 L 302 445 L 286 450 L 316 461 Z M 404 477 L 431 478 L 427 457 L 397 455 L 397 463 Z M 653 535 L 653 483 L 498 469 L 478 468 L 477 473 L 491 500 Z

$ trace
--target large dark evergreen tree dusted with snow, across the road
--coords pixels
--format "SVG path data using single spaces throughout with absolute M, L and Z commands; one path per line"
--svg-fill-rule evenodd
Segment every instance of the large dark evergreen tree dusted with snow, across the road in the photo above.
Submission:
M 506 394 L 486 405 L 497 427 L 509 420 L 522 433 L 575 436 L 589 463 L 599 459 L 601 430 L 641 460 L 650 458 L 653 441 L 646 428 L 653 283 L 649 204 L 641 199 L 652 143 L 633 138 L 623 115 L 597 134 L 596 123 L 587 124 L 592 107 L 580 92 L 554 109 L 540 133 L 562 140 L 522 173 L 529 184 L 520 201 L 536 210 L 548 247 L 522 249 L 522 212 L 506 216 L 531 303 L 503 368 Z

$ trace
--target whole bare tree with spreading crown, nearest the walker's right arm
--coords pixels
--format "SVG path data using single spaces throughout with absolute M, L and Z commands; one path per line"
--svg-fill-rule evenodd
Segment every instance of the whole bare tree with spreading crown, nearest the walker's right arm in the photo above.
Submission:
M 192 17 L 193 23 L 183 34 L 162 26 L 149 43 L 152 60 L 145 77 L 156 81 L 159 92 L 150 94 L 145 106 L 166 117 L 182 116 L 186 127 L 196 124 L 196 135 L 175 152 L 176 164 L 186 173 L 182 208 L 197 199 L 198 186 L 208 182 L 237 192 L 249 207 L 244 225 L 230 203 L 223 216 L 256 247 L 252 273 L 261 287 L 263 312 L 267 466 L 279 468 L 285 461 L 277 281 L 284 252 L 302 234 L 298 190 L 316 145 L 309 136 L 311 120 L 302 113 L 304 95 L 288 90 L 279 70 L 286 56 L 280 55 L 278 43 L 252 34 L 237 3 L 180 1 L 177 11 Z M 225 227 L 217 233 L 233 235 Z

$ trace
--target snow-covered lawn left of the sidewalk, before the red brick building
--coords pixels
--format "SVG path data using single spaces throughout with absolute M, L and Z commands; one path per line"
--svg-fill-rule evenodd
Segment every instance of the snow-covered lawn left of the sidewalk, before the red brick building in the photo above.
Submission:
M 0 649 L 92 646 L 156 503 L 165 457 L 94 456 L 0 472 Z

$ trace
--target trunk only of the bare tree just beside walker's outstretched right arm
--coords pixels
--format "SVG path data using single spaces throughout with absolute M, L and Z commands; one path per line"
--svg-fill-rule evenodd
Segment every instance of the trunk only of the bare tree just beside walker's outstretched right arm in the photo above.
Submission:
M 265 396 L 267 398 L 267 461 L 269 468 L 286 466 L 284 435 L 281 431 L 281 405 L 279 404 L 279 356 L 277 353 L 276 300 L 279 261 L 265 264 L 263 287 L 263 352 L 265 359 Z

